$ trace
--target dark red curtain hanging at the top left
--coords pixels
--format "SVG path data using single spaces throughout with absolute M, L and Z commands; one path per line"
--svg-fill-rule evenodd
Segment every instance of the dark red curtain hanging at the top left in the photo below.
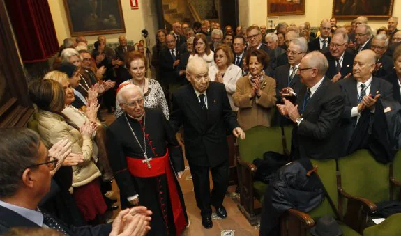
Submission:
M 6 6 L 24 63 L 45 61 L 58 52 L 47 0 L 6 0 Z

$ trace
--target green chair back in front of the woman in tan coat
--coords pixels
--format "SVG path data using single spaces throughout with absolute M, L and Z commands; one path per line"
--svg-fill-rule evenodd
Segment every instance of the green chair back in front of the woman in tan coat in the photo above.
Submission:
M 239 139 L 239 156 L 245 162 L 263 159 L 268 151 L 283 154 L 281 127 L 255 126 L 245 132 L 245 139 Z

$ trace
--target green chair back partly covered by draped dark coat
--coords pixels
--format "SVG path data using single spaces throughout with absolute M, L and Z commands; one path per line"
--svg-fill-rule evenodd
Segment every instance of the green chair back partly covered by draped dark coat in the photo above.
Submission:
M 323 182 L 328 194 L 333 200 L 334 205 L 338 208 L 338 194 L 337 194 L 337 177 L 335 168 L 335 159 L 310 159 L 312 165 L 317 165 L 317 174 L 319 175 L 321 182 Z M 330 203 L 328 203 L 327 198 L 324 198 L 323 203 L 318 207 L 308 212 L 313 219 L 318 219 L 324 215 L 330 215 L 334 218 L 335 213 Z

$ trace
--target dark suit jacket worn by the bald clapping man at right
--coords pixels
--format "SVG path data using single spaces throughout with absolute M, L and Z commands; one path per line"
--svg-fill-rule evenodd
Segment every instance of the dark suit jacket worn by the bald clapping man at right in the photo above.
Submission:
M 351 117 L 351 110 L 353 107 L 358 106 L 358 90 L 357 81 L 354 77 L 342 79 L 338 82 L 344 95 L 345 109 L 341 115 L 341 133 L 342 133 L 342 155 L 346 155 L 346 150 L 351 140 L 352 134 L 356 127 L 357 116 Z M 376 95 L 377 91 L 380 93 L 380 97 L 391 98 L 393 96 L 393 88 L 384 79 L 372 77 L 372 83 L 370 84 L 370 94 Z

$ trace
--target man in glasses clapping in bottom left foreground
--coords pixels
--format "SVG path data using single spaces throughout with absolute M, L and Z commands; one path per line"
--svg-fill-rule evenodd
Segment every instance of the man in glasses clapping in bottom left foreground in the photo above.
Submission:
M 82 227 L 67 226 L 38 208 L 58 163 L 70 152 L 66 143 L 47 150 L 31 129 L 0 130 L 0 234 L 10 228 L 52 228 L 65 235 L 146 235 L 151 220 L 146 207 L 121 211 L 113 224 Z

